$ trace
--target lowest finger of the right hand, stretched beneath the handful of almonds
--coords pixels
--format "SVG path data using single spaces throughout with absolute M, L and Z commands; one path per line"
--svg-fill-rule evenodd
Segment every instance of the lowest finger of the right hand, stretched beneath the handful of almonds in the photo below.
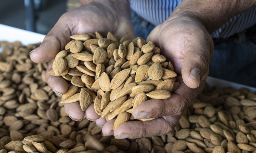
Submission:
M 180 116 L 168 116 L 149 121 L 128 121 L 119 125 L 114 132 L 116 139 L 151 137 L 164 135 L 173 130 Z M 161 125 L 161 126 L 157 126 Z

